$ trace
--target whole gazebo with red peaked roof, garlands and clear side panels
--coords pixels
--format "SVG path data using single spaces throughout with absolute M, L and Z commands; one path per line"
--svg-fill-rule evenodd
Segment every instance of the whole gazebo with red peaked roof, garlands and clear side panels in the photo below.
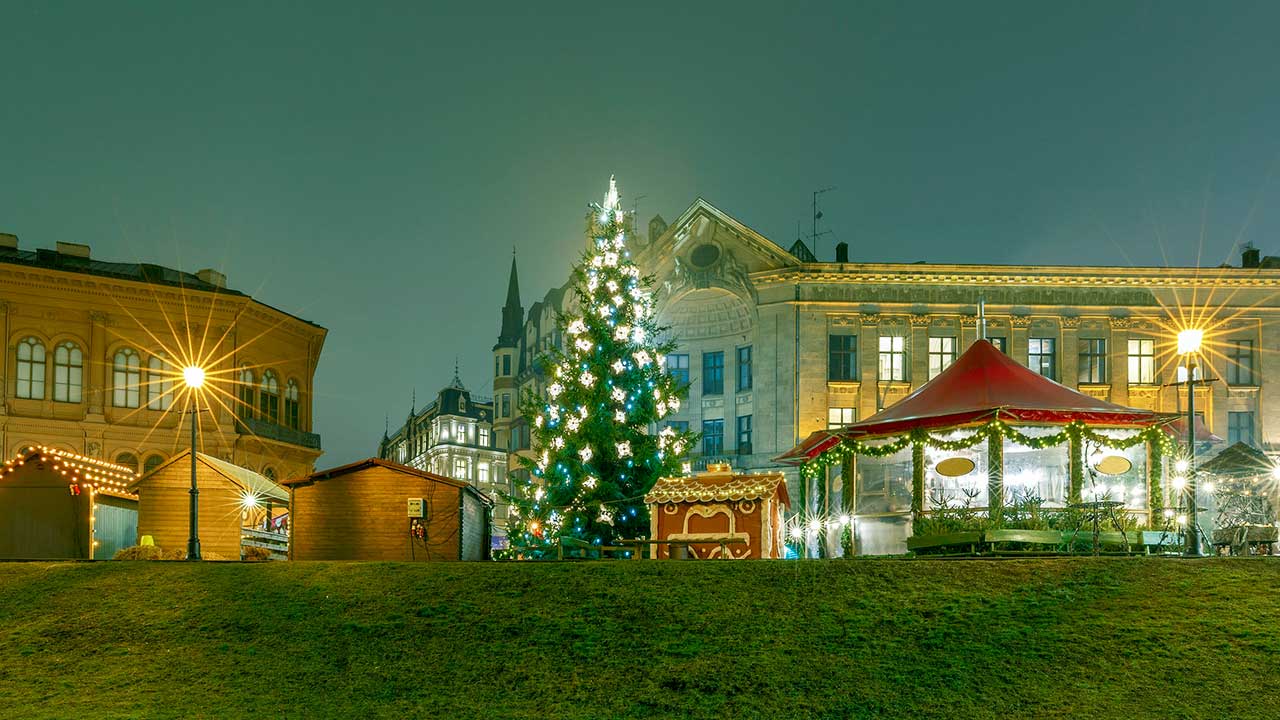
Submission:
M 900 402 L 815 432 L 778 460 L 804 477 L 838 465 L 860 551 L 899 553 L 913 523 L 948 510 L 995 519 L 1014 503 L 1107 500 L 1148 523 L 1164 506 L 1166 420 L 1061 386 L 978 340 Z

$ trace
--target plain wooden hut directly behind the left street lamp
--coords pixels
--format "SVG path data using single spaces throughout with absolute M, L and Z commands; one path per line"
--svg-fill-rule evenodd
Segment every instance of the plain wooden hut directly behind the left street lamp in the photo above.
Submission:
M 196 454 L 200 489 L 200 553 L 206 560 L 239 560 L 244 530 L 266 514 L 283 512 L 289 493 L 271 479 L 204 452 Z M 138 478 L 138 537 L 163 550 L 186 550 L 191 537 L 191 450 Z

